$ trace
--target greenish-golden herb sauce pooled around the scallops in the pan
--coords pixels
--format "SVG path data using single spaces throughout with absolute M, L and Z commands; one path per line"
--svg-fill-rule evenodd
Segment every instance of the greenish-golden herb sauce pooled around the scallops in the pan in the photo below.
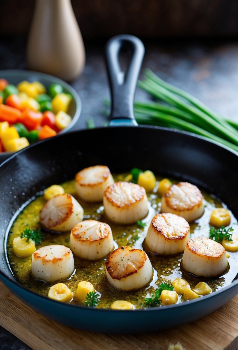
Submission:
M 114 175 L 113 177 L 115 181 L 118 181 L 119 179 L 124 178 L 125 174 Z M 68 279 L 60 281 L 71 290 L 73 295 L 76 293 L 77 286 L 80 281 L 88 281 L 92 283 L 99 296 L 99 302 L 96 307 L 109 308 L 116 300 L 124 300 L 132 303 L 134 308 L 141 309 L 148 307 L 148 304 L 145 303 L 145 298 L 148 296 L 150 297 L 162 282 L 171 283 L 176 278 L 182 278 L 189 283 L 191 289 L 193 289 L 199 282 L 206 282 L 212 289 L 212 292 L 214 292 L 216 289 L 230 285 L 232 280 L 236 278 L 238 262 L 238 253 L 236 252 L 229 253 L 229 266 L 222 276 L 206 278 L 194 276 L 191 273 L 185 272 L 180 267 L 183 254 L 157 255 L 151 253 L 147 249 L 144 239 L 151 220 L 160 212 L 161 208 L 161 196 L 157 191 L 158 182 L 161 179 L 161 177 L 156 177 L 156 187 L 153 191 L 147 192 L 149 212 L 147 217 L 142 220 L 143 224 L 145 224 L 144 227 L 140 225 L 140 222 L 139 224 L 135 223 L 124 225 L 118 225 L 110 222 L 104 215 L 104 207 L 102 202 L 85 202 L 77 196 L 75 191 L 75 180 L 62 184 L 65 193 L 71 194 L 83 207 L 83 220 L 92 219 L 105 222 L 110 225 L 113 234 L 114 249 L 121 246 L 129 246 L 146 251 L 154 270 L 153 279 L 144 288 L 132 291 L 120 291 L 112 287 L 105 276 L 105 261 L 107 257 L 99 260 L 84 260 L 74 254 L 74 272 Z M 178 181 L 172 182 L 178 183 Z M 214 195 L 209 195 L 204 191 L 202 191 L 202 194 L 204 196 L 204 214 L 195 222 L 189 223 L 190 239 L 201 236 L 209 238 L 209 221 L 211 211 L 219 207 L 226 208 L 225 204 L 219 201 Z M 40 228 L 39 213 L 45 202 L 46 200 L 44 199 L 43 195 L 37 198 L 32 198 L 32 201 L 29 204 L 26 204 L 25 208 L 18 213 L 8 234 L 7 257 L 10 269 L 12 270 L 12 273 L 17 281 L 19 281 L 24 287 L 27 287 L 36 293 L 47 296 L 50 287 L 57 282 L 46 283 L 42 280 L 34 279 L 31 275 L 32 254 L 28 257 L 22 258 L 15 255 L 13 251 L 13 239 L 19 237 L 21 232 L 23 232 L 26 228 L 30 228 L 34 231 L 37 231 Z M 232 226 L 234 229 L 232 233 L 237 235 L 237 219 L 233 216 L 231 211 L 229 212 L 231 222 L 228 227 Z M 69 239 L 70 232 L 62 232 L 60 234 L 45 232 L 44 239 L 41 243 L 36 245 L 36 249 L 53 244 L 60 244 L 69 247 Z M 179 302 L 186 302 L 184 301 L 183 295 L 178 295 L 177 303 Z M 85 305 L 84 302 L 79 302 L 76 297 L 73 297 L 70 303 Z

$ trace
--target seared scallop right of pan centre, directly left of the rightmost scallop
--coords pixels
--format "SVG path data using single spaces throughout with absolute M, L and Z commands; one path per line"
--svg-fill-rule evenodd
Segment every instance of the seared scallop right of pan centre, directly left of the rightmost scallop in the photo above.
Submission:
M 184 251 L 189 235 L 190 227 L 184 218 L 164 213 L 152 219 L 145 242 L 153 253 L 177 254 Z

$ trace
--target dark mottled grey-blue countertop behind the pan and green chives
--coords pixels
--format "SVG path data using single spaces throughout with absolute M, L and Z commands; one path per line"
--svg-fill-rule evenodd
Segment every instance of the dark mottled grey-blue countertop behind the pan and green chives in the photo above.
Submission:
M 109 88 L 102 44 L 86 45 L 86 66 L 81 77 L 71 83 L 82 100 L 82 113 L 75 130 L 87 128 L 94 117 L 103 126 L 103 98 Z M 214 111 L 238 121 L 238 44 L 237 42 L 146 42 L 142 71 L 149 67 L 162 79 L 193 94 Z M 0 41 L 0 69 L 27 69 L 25 39 L 10 37 Z M 141 75 L 142 76 L 142 75 Z M 137 89 L 136 99 L 148 100 Z M 0 327 L 1 350 L 27 350 L 29 347 Z

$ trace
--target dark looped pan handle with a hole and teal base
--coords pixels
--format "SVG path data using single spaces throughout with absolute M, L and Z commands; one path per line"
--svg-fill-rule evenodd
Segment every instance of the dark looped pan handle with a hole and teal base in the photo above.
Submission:
M 121 50 L 131 53 L 127 71 L 121 70 L 119 55 Z M 117 35 L 106 44 L 106 68 L 111 87 L 111 125 L 138 125 L 134 117 L 134 97 L 144 45 L 133 35 Z

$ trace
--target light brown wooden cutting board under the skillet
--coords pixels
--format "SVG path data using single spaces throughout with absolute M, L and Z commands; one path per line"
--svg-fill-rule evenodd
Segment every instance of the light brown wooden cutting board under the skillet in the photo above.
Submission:
M 0 282 L 0 324 L 34 350 L 166 350 L 170 343 L 177 342 L 187 350 L 236 350 L 238 295 L 191 324 L 147 334 L 107 335 L 51 321 L 22 303 Z

